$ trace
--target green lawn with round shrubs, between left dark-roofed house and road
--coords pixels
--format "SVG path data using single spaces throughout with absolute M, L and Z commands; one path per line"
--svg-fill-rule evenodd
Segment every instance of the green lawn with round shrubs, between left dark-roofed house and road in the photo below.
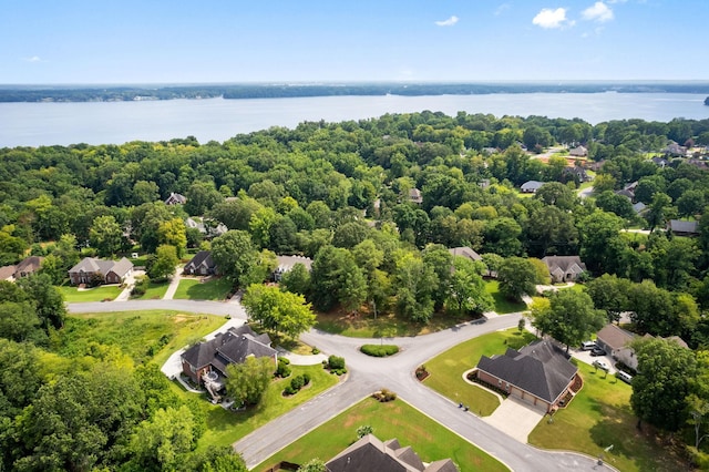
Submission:
M 320 365 L 291 366 L 291 377 L 271 382 L 261 402 L 246 411 L 227 411 L 222 407 L 214 407 L 204 401 L 207 430 L 199 439 L 197 448 L 204 450 L 208 445 L 229 445 L 255 429 L 336 386 L 339 379 L 339 377 L 322 369 Z M 310 374 L 310 386 L 292 397 L 284 397 L 281 392 L 289 384 L 292 376 L 299 376 L 304 372 Z M 184 394 L 191 396 L 186 392 Z

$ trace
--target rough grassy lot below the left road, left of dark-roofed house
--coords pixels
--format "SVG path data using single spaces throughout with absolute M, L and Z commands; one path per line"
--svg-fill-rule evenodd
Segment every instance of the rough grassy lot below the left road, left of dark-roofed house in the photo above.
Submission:
M 179 311 L 115 311 L 76 314 L 56 334 L 55 349 L 65 356 L 90 352 L 92 345 L 114 346 L 136 362 L 162 366 L 177 349 L 202 339 L 224 325 L 214 315 Z

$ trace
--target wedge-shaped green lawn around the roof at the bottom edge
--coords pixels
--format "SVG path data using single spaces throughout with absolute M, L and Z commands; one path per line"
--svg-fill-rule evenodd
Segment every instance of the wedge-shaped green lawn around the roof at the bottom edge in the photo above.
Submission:
M 372 427 L 382 441 L 397 438 L 402 447 L 411 445 L 424 462 L 451 459 L 461 471 L 506 471 L 501 462 L 431 420 L 401 400 L 380 403 L 366 399 L 300 438 L 254 469 L 267 470 L 280 461 L 305 463 L 314 458 L 333 458 L 357 440 L 357 428 Z

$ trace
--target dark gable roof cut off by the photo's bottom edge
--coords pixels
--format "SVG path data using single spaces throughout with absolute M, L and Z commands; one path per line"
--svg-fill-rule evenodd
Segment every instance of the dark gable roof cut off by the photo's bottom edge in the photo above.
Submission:
M 450 459 L 425 466 L 411 447 L 401 448 L 395 439 L 380 441 L 367 434 L 326 464 L 329 472 L 458 472 Z

